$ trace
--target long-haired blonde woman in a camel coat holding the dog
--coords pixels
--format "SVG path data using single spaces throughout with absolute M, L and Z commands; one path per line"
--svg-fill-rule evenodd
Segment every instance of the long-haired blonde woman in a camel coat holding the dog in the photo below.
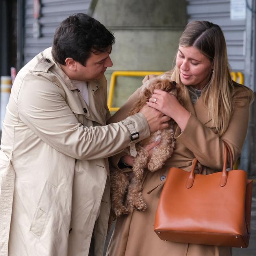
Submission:
M 229 247 L 162 241 L 154 233 L 153 224 L 170 167 L 190 171 L 193 160 L 197 158 L 206 166 L 203 174 L 220 171 L 224 141 L 230 146 L 234 160 L 241 154 L 253 92 L 232 81 L 224 35 L 220 27 L 211 22 L 194 21 L 186 26 L 172 72 L 172 80 L 182 85 L 183 106 L 175 96 L 160 90 L 154 91 L 147 104 L 176 121 L 176 149 L 163 168 L 155 173 L 145 172 L 143 197 L 148 208 L 144 212 L 131 209 L 129 215 L 117 219 L 108 256 L 232 255 Z M 138 93 L 139 89 L 111 118 L 111 122 L 125 117 Z M 132 157 L 124 156 L 124 153 L 112 158 L 113 165 L 117 166 L 120 159 L 132 165 Z

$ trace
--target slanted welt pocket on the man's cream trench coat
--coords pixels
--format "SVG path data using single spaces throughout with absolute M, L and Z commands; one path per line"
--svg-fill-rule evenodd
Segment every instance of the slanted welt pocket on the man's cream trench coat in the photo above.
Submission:
M 56 194 L 57 187 L 46 181 L 30 226 L 30 232 L 32 232 L 38 238 L 40 238 L 43 234 L 46 219 Z

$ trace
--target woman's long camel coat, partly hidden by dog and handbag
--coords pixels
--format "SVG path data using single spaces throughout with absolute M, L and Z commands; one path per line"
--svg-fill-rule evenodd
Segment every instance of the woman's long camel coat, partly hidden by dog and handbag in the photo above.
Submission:
M 128 99 L 128 102 L 110 119 L 116 122 L 125 117 L 126 112 L 135 102 L 139 89 Z M 190 171 L 191 163 L 196 157 L 209 168 L 204 174 L 212 173 L 223 167 L 224 143 L 230 146 L 236 159 L 245 139 L 249 118 L 249 92 L 236 87 L 235 108 L 228 129 L 222 137 L 215 134 L 211 120 L 208 120 L 208 109 L 202 98 L 195 105 L 190 98 L 185 107 L 191 112 L 186 128 L 181 132 L 176 127 L 176 149 L 164 167 L 155 173 L 147 172 L 144 177 L 143 197 L 148 208 L 144 212 L 130 209 L 131 213 L 119 217 L 109 243 L 107 256 L 230 256 L 232 249 L 210 245 L 194 245 L 163 241 L 153 230 L 154 217 L 158 200 L 170 167 L 178 167 Z M 113 165 L 117 166 L 123 153 L 112 157 Z M 127 170 L 126 170 L 127 171 Z M 126 202 L 127 203 L 127 202 Z

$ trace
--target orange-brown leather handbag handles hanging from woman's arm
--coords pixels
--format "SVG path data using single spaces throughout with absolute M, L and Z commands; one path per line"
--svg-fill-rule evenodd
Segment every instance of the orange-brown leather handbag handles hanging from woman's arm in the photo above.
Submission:
M 223 163 L 223 169 L 222 169 L 222 176 L 220 181 L 220 186 L 224 187 L 226 185 L 227 179 L 228 179 L 228 172 L 226 170 L 227 166 L 227 159 L 228 159 L 228 153 L 229 153 L 229 161 L 230 161 L 230 168 L 233 169 L 233 156 L 230 147 L 228 144 L 224 141 L 224 163 Z M 228 152 L 228 153 L 227 153 Z M 192 169 L 189 175 L 189 178 L 187 179 L 187 188 L 191 188 L 193 186 L 194 180 L 195 180 L 195 167 L 197 165 L 197 158 L 195 158 L 195 161 L 193 162 Z

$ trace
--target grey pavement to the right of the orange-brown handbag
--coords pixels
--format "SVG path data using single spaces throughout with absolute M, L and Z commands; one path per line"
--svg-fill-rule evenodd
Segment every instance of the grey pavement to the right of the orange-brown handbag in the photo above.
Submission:
M 233 248 L 233 256 L 256 256 L 256 176 L 249 179 L 253 180 L 250 242 L 247 248 Z

